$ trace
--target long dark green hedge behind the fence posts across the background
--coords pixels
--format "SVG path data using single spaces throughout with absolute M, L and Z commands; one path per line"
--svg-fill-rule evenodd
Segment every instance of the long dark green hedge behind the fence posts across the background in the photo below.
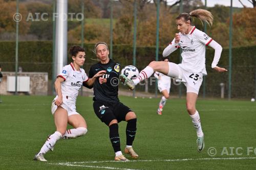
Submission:
M 73 44 L 68 44 L 68 46 Z M 94 44 L 84 44 L 86 49 L 86 72 L 94 64 L 96 59 L 92 52 Z M 159 47 L 159 57 L 162 56 L 164 47 Z M 252 98 L 255 96 L 255 72 L 256 72 L 256 46 L 232 48 L 232 70 L 229 68 L 228 48 L 223 49 L 222 57 L 218 66 L 225 67 L 232 71 L 231 97 L 232 98 Z M 136 66 L 139 70 L 143 69 L 148 63 L 155 60 L 156 48 L 154 46 L 137 47 L 136 49 Z M 15 42 L 0 42 L 0 64 L 3 71 L 15 71 Z M 220 83 L 225 83 L 225 97 L 228 93 L 228 72 L 218 73 L 211 69 L 214 50 L 207 47 L 206 51 L 206 69 L 208 75 L 205 77 L 205 89 L 207 97 L 220 96 Z M 114 45 L 113 59 L 125 65 L 133 64 L 133 46 L 131 45 Z M 71 62 L 71 58 L 68 58 Z M 179 50 L 170 55 L 170 61 L 179 63 Z M 49 79 L 52 78 L 52 42 L 51 41 L 23 41 L 19 42 L 18 48 L 18 66 L 23 71 L 44 71 L 48 72 Z M 137 87 L 143 90 L 144 86 Z M 200 89 L 202 95 L 203 85 Z M 149 91 L 154 92 L 155 86 L 150 86 Z M 172 85 L 171 93 L 178 94 L 178 86 Z M 185 87 L 182 85 L 182 94 L 185 95 Z

